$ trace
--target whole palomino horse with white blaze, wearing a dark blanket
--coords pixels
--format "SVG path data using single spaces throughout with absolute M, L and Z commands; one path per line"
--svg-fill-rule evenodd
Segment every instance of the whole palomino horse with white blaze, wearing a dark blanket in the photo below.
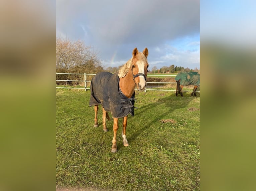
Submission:
M 128 114 L 134 116 L 135 86 L 138 91 L 144 91 L 147 84 L 148 49 L 139 52 L 137 48 L 132 51 L 132 58 L 116 73 L 100 72 L 91 81 L 91 97 L 89 106 L 94 106 L 94 127 L 98 127 L 98 105 L 102 105 L 103 131 L 107 132 L 106 118 L 111 120 L 108 112 L 111 112 L 114 120 L 111 152 L 117 152 L 116 133 L 118 119 L 123 118 L 123 145 L 129 146 L 126 139 L 126 126 Z

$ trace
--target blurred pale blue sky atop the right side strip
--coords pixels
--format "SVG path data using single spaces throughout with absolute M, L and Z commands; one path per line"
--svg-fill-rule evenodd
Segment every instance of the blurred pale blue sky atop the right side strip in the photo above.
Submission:
M 212 40 L 236 48 L 256 43 L 255 0 L 201 0 L 201 40 Z

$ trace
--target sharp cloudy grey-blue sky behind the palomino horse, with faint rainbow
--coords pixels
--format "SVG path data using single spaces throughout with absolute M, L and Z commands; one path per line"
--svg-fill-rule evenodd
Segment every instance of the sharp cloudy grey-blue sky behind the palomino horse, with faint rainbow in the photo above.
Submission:
M 84 41 L 105 68 L 147 47 L 149 70 L 200 69 L 200 1 L 56 0 L 56 37 Z

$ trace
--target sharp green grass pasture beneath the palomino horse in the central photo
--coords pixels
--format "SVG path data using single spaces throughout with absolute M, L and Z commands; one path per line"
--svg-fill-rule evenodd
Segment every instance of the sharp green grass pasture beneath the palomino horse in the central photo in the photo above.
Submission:
M 135 91 L 122 144 L 111 153 L 109 132 L 94 127 L 90 91 L 56 89 L 56 187 L 86 190 L 200 190 L 200 95 Z M 111 116 L 111 115 L 110 115 Z

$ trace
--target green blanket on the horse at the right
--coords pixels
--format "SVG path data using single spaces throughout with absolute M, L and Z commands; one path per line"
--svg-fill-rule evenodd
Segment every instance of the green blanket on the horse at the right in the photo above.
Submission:
M 199 86 L 200 74 L 198 72 L 180 72 L 175 77 L 175 80 L 176 81 L 180 80 L 180 85 L 182 86 L 188 86 L 188 85 Z

